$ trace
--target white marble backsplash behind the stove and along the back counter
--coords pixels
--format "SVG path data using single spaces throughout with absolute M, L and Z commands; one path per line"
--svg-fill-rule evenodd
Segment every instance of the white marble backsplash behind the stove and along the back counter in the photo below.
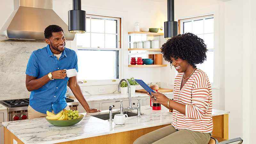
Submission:
M 46 43 L 39 42 L 0 42 L 0 100 L 29 98 L 25 80 L 28 59 L 31 53 L 45 47 Z M 148 85 L 160 82 L 147 83 Z M 84 95 L 118 93 L 116 85 L 81 86 Z M 105 92 L 99 92 L 104 87 Z M 143 89 L 140 85 L 136 90 Z M 67 92 L 68 94 L 68 92 Z

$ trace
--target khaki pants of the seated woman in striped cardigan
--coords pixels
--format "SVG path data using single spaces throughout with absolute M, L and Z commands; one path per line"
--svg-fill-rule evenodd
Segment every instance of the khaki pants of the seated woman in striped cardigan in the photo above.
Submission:
M 210 137 L 210 133 L 176 130 L 168 125 L 139 137 L 133 144 L 208 144 Z

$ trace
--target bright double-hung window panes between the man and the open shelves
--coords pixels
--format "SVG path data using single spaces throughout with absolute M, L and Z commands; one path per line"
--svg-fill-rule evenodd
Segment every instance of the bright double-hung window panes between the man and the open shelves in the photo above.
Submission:
M 76 34 L 78 79 L 119 79 L 121 18 L 86 15 L 86 32 Z

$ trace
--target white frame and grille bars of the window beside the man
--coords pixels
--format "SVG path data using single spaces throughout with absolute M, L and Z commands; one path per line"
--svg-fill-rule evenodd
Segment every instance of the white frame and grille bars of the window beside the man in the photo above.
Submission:
M 121 80 L 122 77 L 122 48 L 121 48 L 121 39 L 122 39 L 122 35 L 121 35 L 121 21 L 122 18 L 117 18 L 117 17 L 110 17 L 110 16 L 100 16 L 100 15 L 92 15 L 92 14 L 86 14 L 86 18 L 90 16 L 90 19 L 93 18 L 104 18 L 104 27 L 105 27 L 105 20 L 106 19 L 114 19 L 117 20 L 117 48 L 92 48 L 91 47 L 91 41 L 92 39 L 90 38 L 90 47 L 81 47 L 81 46 L 77 46 L 76 44 L 76 36 L 74 38 L 74 41 L 71 42 L 72 47 L 75 47 L 75 51 L 76 53 L 78 52 L 78 50 L 104 50 L 104 51 L 118 51 L 118 78 L 117 79 L 103 79 L 103 80 L 77 80 L 77 81 L 83 81 L 84 83 L 79 84 L 80 86 L 93 86 L 93 85 L 111 85 L 111 84 L 118 84 L 119 81 Z M 91 20 L 90 20 L 90 26 L 91 26 Z M 109 33 L 105 33 L 105 29 L 104 28 L 104 33 L 101 34 L 109 34 Z M 90 37 L 92 33 L 95 32 L 91 32 L 91 27 L 90 27 Z M 77 35 L 77 34 L 76 34 Z M 104 47 L 105 47 L 105 37 L 104 37 Z M 78 66 L 78 74 L 79 75 L 79 66 Z

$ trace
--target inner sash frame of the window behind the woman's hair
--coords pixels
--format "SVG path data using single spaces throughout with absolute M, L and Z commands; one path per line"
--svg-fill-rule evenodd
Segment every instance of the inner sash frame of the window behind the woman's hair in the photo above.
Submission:
M 220 89 L 219 87 L 219 68 L 218 68 L 218 63 L 219 63 L 219 54 L 218 54 L 218 45 L 215 43 L 217 37 L 216 37 L 216 19 L 214 17 L 214 14 L 208 14 L 208 15 L 202 15 L 202 16 L 196 16 L 196 17 L 190 17 L 190 18 L 186 18 L 186 19 L 179 19 L 178 20 L 178 25 L 179 25 L 179 29 L 178 29 L 178 33 L 182 34 L 183 33 L 183 22 L 187 22 L 187 21 L 192 21 L 192 20 L 200 20 L 200 19 L 207 19 L 207 18 L 212 18 L 213 17 L 213 23 L 214 23 L 214 30 L 213 30 L 213 48 L 208 49 L 209 52 L 213 52 L 213 82 L 211 83 L 212 88 L 214 89 Z M 218 31 L 218 29 L 217 29 Z M 218 33 L 218 32 L 217 32 Z M 208 34 L 208 33 L 203 33 L 203 34 Z M 198 35 L 198 34 L 197 34 Z M 218 40 L 217 40 L 218 41 Z M 173 72 L 175 73 L 176 76 L 176 71 L 173 70 Z M 174 78 L 175 78 L 174 76 Z

